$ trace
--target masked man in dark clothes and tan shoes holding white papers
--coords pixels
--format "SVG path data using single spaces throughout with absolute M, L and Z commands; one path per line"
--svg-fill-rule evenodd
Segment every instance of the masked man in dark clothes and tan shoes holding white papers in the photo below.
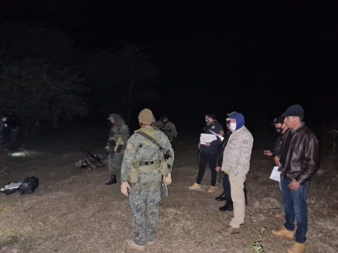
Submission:
M 206 126 L 204 127 L 205 134 L 211 134 L 209 130 L 217 134 L 224 134 L 223 126 L 216 120 L 215 114 L 206 114 L 205 115 L 205 123 Z M 189 189 L 197 189 L 201 188 L 201 181 L 203 179 L 203 175 L 205 172 L 205 167 L 207 163 L 209 163 L 209 167 L 211 170 L 211 185 L 208 192 L 215 191 L 216 185 L 216 160 L 218 157 L 219 147 L 220 147 L 220 139 L 217 139 L 213 142 L 208 142 L 205 144 L 198 144 L 200 150 L 200 161 L 199 161 L 199 171 L 196 179 L 196 183 L 189 187 Z

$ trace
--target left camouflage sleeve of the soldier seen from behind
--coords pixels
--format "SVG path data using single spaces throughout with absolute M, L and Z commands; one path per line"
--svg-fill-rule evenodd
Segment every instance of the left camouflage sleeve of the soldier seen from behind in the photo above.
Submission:
M 137 135 L 133 134 L 126 146 L 126 151 L 123 156 L 122 165 L 121 165 L 121 182 L 127 182 L 132 169 L 133 162 L 136 160 L 136 147 L 138 145 Z

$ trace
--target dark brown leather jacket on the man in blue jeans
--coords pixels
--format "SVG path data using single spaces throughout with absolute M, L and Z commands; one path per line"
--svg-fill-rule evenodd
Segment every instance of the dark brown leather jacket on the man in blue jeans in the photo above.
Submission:
M 319 140 L 315 133 L 303 125 L 292 134 L 292 140 L 287 152 L 286 163 L 283 170 L 283 178 L 295 178 L 299 184 L 309 181 L 319 168 Z

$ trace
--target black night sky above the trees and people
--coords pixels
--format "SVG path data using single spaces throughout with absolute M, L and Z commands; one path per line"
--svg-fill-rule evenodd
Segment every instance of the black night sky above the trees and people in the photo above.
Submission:
M 82 52 L 144 45 L 161 70 L 159 117 L 201 124 L 240 111 L 267 126 L 299 103 L 305 121 L 337 119 L 337 1 L 8 1 L 1 15 L 68 32 Z M 142 106 L 149 106 L 144 104 Z M 154 107 L 153 105 L 150 105 Z M 142 108 L 139 108 L 142 109 Z M 136 113 L 136 112 L 135 112 Z

